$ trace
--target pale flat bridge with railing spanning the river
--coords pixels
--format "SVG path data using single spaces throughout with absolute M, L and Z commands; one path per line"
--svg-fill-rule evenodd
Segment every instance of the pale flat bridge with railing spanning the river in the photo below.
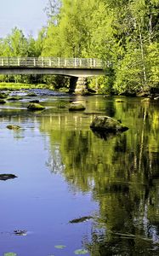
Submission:
M 72 90 L 75 89 L 78 78 L 105 75 L 110 67 L 109 61 L 83 58 L 53 58 L 53 57 L 0 57 L 0 74 L 55 74 L 73 77 Z M 83 81 L 80 82 L 81 89 Z

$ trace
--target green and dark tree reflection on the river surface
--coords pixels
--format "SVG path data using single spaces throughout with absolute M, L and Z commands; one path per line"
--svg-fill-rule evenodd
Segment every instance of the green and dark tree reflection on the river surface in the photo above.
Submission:
M 90 255 L 158 255 L 159 107 L 136 98 L 78 100 L 85 101 L 87 114 L 48 109 L 3 115 L 2 120 L 26 124 L 27 117 L 28 127 L 34 125 L 48 138 L 49 171 L 62 175 L 72 192 L 90 193 L 98 202 L 90 233 L 82 236 Z M 89 129 L 94 113 L 122 119 L 129 130 L 101 139 Z

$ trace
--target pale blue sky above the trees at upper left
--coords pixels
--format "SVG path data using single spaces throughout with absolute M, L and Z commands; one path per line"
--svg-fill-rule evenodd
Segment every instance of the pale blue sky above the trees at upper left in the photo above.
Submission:
M 48 0 L 0 0 L 0 38 L 17 26 L 26 36 L 37 38 L 38 31 L 47 24 L 44 8 Z

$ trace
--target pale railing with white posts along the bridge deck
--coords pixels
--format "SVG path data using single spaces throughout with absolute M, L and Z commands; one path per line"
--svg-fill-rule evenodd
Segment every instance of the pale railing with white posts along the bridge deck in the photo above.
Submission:
M 2 67 L 43 67 L 43 68 L 101 68 L 109 67 L 109 61 L 84 58 L 55 57 L 0 57 Z

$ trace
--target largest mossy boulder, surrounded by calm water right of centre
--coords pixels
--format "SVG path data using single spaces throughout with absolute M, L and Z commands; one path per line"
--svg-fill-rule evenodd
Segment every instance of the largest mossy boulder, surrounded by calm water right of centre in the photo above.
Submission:
M 128 127 L 122 125 L 120 121 L 112 119 L 109 116 L 96 116 L 90 125 L 94 131 L 107 131 L 116 133 L 118 131 L 127 131 Z

